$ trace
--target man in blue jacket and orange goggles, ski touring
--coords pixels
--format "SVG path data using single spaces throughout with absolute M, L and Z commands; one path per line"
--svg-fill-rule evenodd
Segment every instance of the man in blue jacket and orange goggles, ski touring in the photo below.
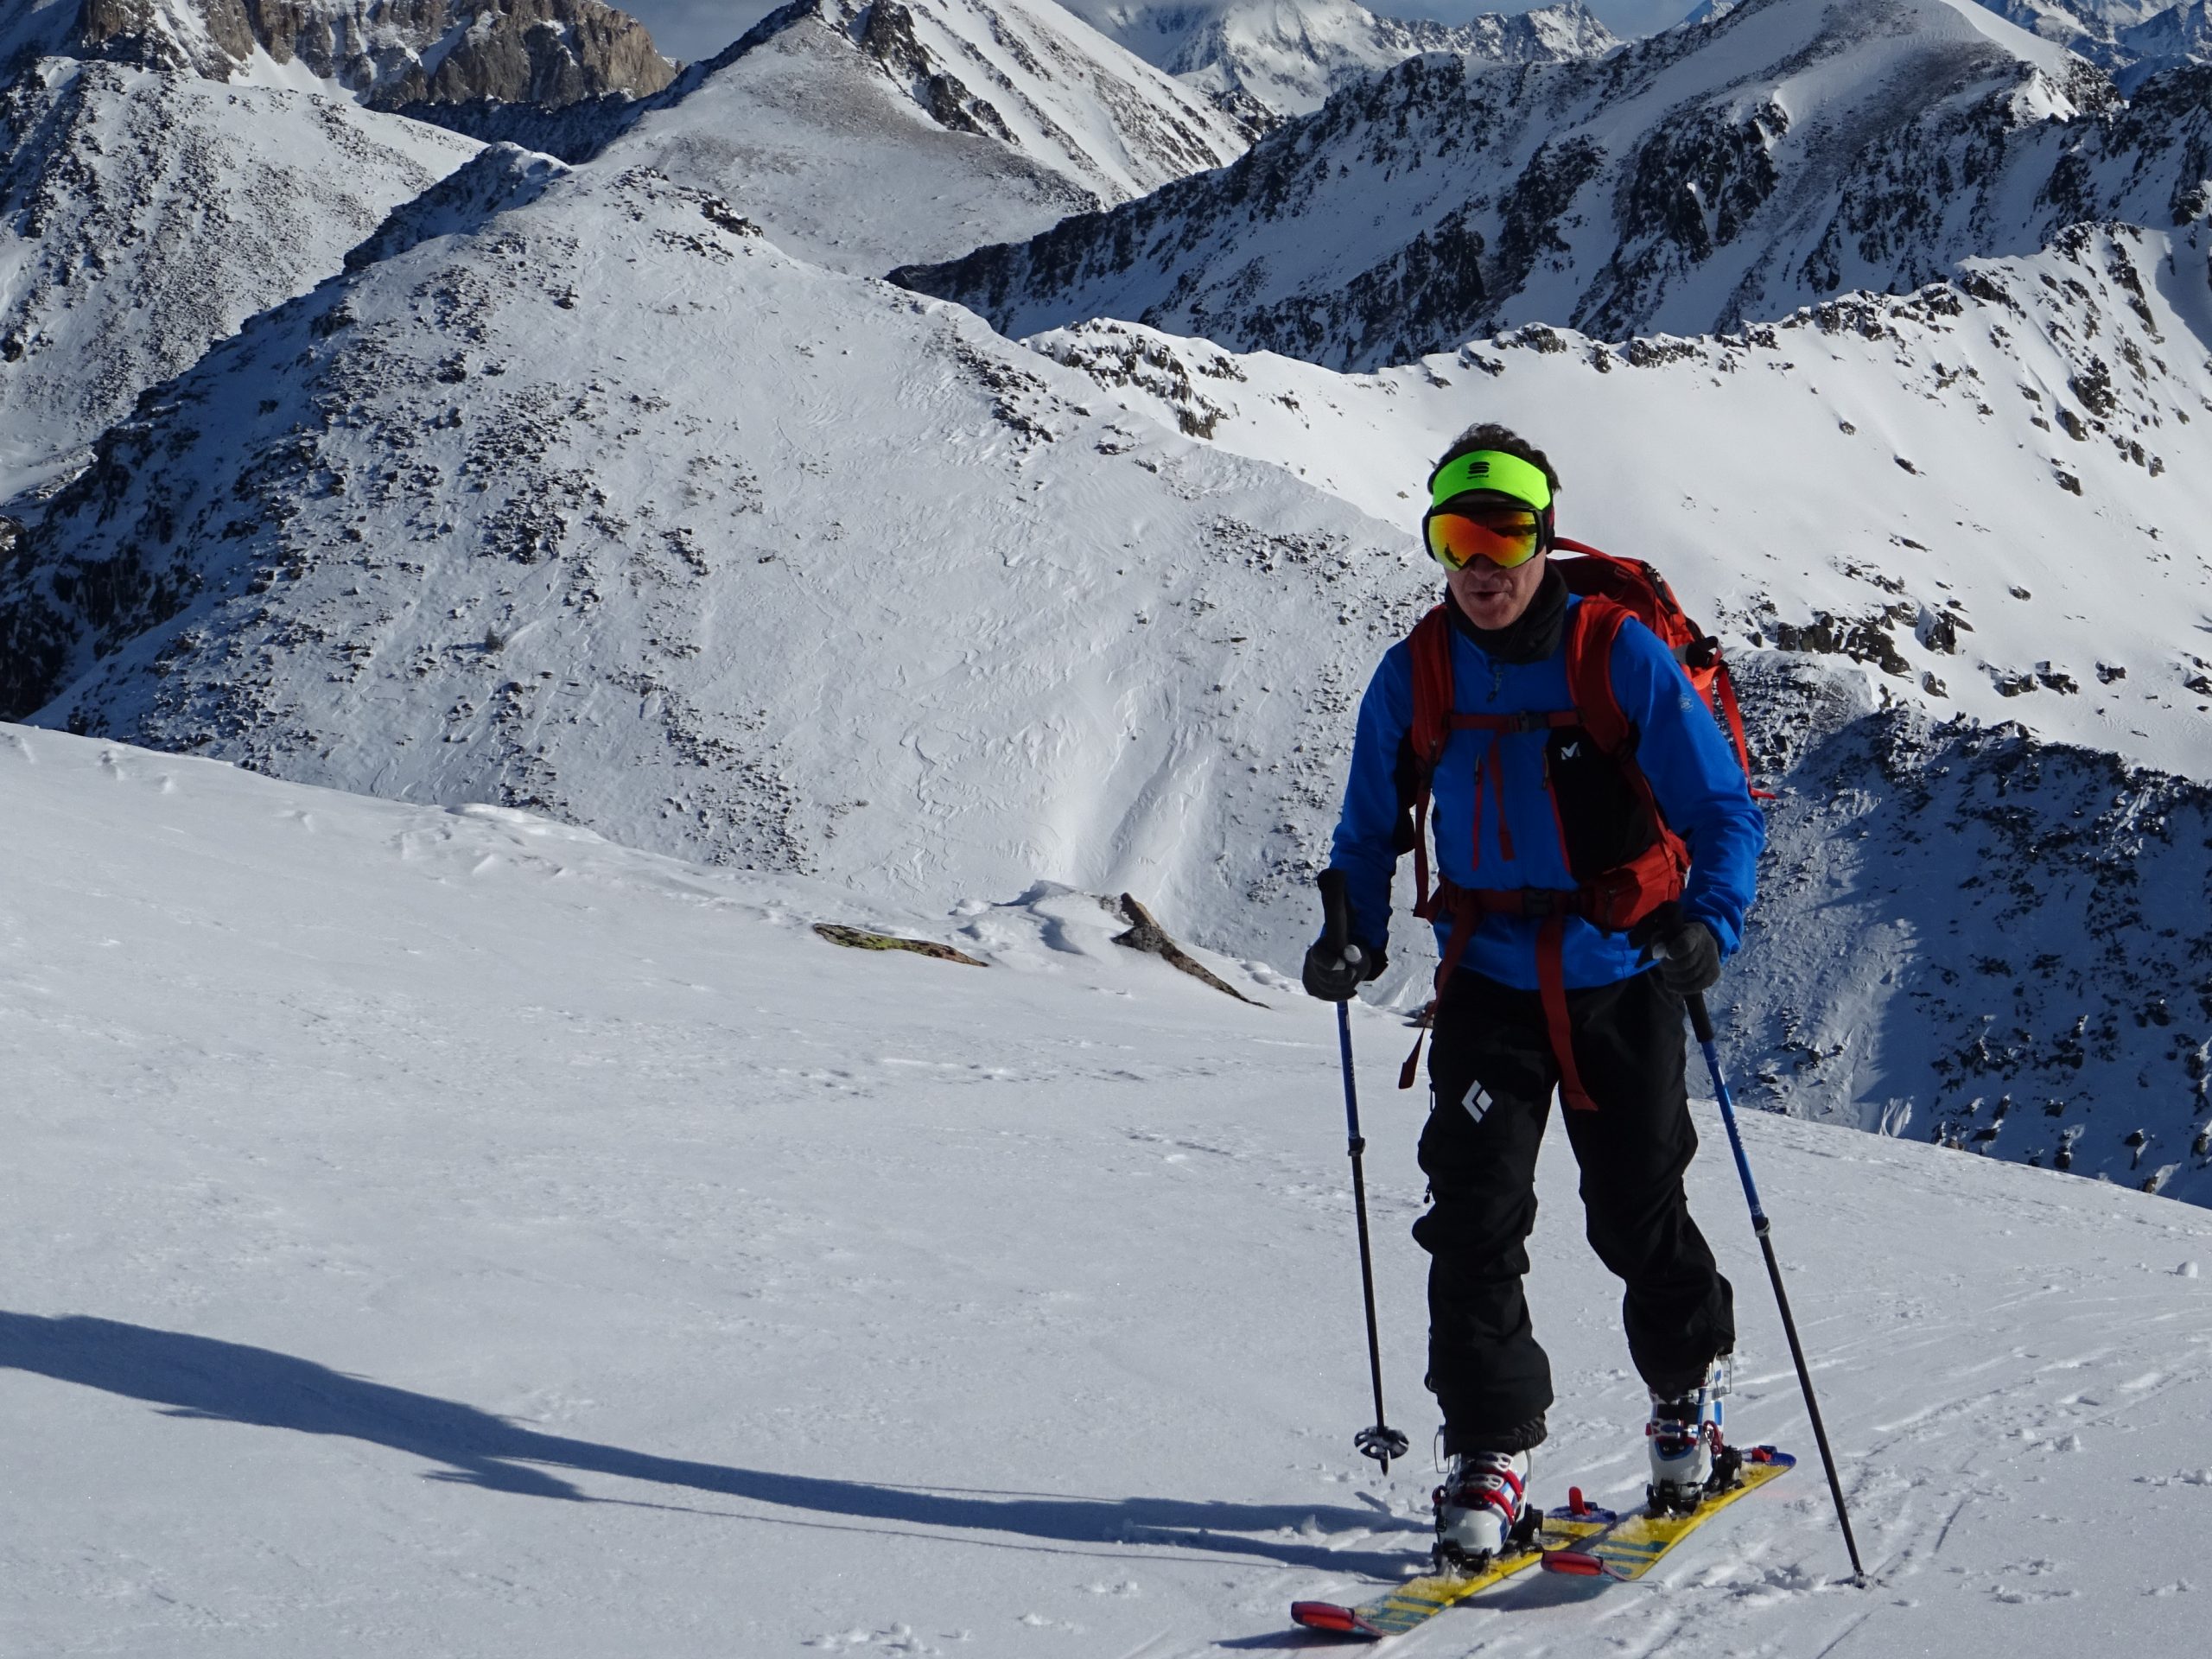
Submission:
M 1690 1509 L 1728 1478 L 1712 1398 L 1734 1312 L 1681 1183 L 1697 1150 L 1683 998 L 1712 987 L 1741 940 L 1765 830 L 1668 646 L 1619 606 L 1568 593 L 1546 557 L 1551 460 L 1482 425 L 1444 451 L 1429 489 L 1425 538 L 1447 597 L 1427 637 L 1383 657 L 1360 703 L 1323 876 L 1345 887 L 1352 938 L 1307 951 L 1305 989 L 1343 1002 L 1383 971 L 1400 852 L 1420 854 L 1427 889 L 1431 825 L 1409 816 L 1433 799 L 1440 883 L 1418 914 L 1444 967 L 1420 1137 L 1431 1208 L 1413 1237 L 1431 1256 L 1427 1383 L 1444 1418 L 1438 1555 L 1469 1564 L 1524 1524 L 1528 1451 L 1553 1400 L 1522 1276 L 1555 1088 L 1590 1245 L 1626 1283 L 1652 1504 Z

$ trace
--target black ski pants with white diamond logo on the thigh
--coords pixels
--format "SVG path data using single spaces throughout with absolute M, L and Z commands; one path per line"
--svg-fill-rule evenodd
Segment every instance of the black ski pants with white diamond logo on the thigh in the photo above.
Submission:
M 1690 1219 L 1697 1152 L 1683 1088 L 1683 1002 L 1657 973 L 1566 993 L 1575 1066 L 1597 1110 L 1564 1110 L 1582 1166 L 1590 1248 L 1628 1287 L 1628 1354 L 1661 1394 L 1694 1389 L 1736 1343 L 1734 1296 Z M 1420 1168 L 1431 1208 L 1429 1389 L 1444 1451 L 1522 1451 L 1544 1438 L 1551 1360 L 1522 1276 L 1535 1225 L 1535 1155 L 1559 1082 L 1544 1009 L 1480 973 L 1451 975 L 1429 1051 Z

